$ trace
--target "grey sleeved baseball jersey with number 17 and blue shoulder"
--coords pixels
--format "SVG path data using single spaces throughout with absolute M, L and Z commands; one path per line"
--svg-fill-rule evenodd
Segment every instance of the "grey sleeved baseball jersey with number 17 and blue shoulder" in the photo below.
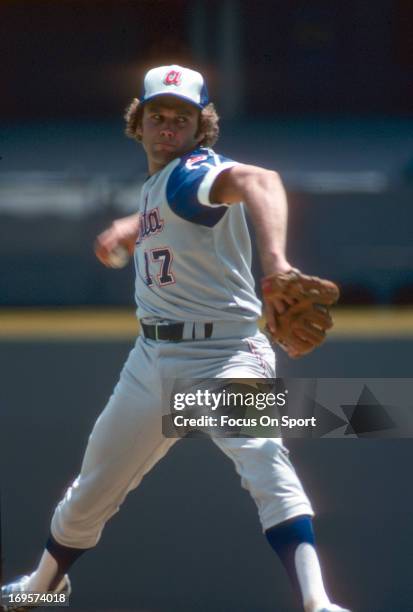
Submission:
M 210 201 L 215 178 L 235 161 L 198 148 L 143 184 L 135 249 L 137 313 L 169 321 L 255 320 L 244 204 Z

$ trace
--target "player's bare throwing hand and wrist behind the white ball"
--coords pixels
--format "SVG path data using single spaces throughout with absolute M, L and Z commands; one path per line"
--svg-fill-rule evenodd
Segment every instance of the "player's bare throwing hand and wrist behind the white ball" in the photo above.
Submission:
M 111 255 L 119 247 L 124 247 L 133 255 L 139 231 L 138 215 L 116 219 L 108 229 L 96 237 L 95 255 L 104 266 L 111 268 Z

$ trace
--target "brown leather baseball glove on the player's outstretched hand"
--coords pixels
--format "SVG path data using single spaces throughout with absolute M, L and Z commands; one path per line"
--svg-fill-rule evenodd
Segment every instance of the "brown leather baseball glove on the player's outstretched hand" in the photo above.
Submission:
M 290 357 L 302 357 L 324 342 L 333 326 L 330 307 L 340 296 L 332 281 L 293 268 L 264 277 L 262 293 L 275 319 L 275 329 L 266 331 Z

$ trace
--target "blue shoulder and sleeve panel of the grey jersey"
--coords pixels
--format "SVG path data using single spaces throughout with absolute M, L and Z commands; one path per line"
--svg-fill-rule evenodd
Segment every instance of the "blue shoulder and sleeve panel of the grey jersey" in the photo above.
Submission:
M 231 160 L 202 148 L 182 157 L 166 186 L 166 198 L 171 210 L 186 221 L 214 227 L 225 215 L 228 206 L 201 204 L 198 189 L 209 170 L 226 161 Z

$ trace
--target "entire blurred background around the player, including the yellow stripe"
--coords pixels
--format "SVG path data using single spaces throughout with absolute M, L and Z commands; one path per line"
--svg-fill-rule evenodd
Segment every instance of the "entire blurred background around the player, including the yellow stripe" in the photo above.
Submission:
M 291 262 L 340 284 L 329 341 L 279 355 L 278 374 L 411 376 L 412 23 L 409 0 L 1 1 L 4 578 L 38 560 L 137 332 L 133 266 L 106 270 L 93 241 L 135 210 L 146 165 L 122 116 L 153 66 L 204 73 L 217 149 L 280 172 Z M 332 593 L 356 612 L 412 612 L 411 441 L 288 445 Z M 298 609 L 205 440 L 172 449 L 72 576 L 79 610 Z

